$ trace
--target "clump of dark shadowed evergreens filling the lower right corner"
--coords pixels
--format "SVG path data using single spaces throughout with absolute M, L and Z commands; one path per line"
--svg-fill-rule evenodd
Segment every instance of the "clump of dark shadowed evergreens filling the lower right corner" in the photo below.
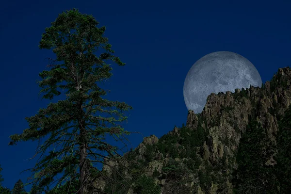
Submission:
M 235 193 L 291 193 L 291 106 L 279 121 L 276 142 L 256 119 L 250 118 L 237 154 Z M 275 150 L 277 153 L 274 155 Z M 274 156 L 273 156 L 274 155 Z M 270 163 L 271 156 L 275 159 Z

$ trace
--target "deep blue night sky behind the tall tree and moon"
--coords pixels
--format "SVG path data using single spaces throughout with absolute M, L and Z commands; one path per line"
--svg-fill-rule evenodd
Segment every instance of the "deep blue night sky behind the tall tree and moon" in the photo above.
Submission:
M 24 118 L 49 103 L 38 96 L 40 88 L 35 81 L 49 63 L 45 58 L 55 55 L 51 50 L 38 49 L 38 43 L 45 28 L 64 10 L 78 8 L 83 14 L 92 14 L 100 26 L 106 26 L 105 36 L 126 65 L 113 65 L 113 77 L 103 88 L 111 90 L 109 99 L 125 101 L 133 107 L 125 129 L 140 131 L 144 136 L 161 137 L 174 125 L 186 123 L 188 111 L 183 98 L 186 74 L 199 58 L 210 52 L 226 50 L 241 54 L 257 67 L 263 82 L 270 80 L 279 67 L 291 65 L 291 2 L 199 2 L 2 2 L 0 164 L 3 185 L 13 188 L 19 178 L 26 182 L 30 173 L 19 173 L 35 164 L 35 160 L 28 159 L 34 155 L 36 143 L 8 146 L 8 137 L 28 128 Z M 143 137 L 132 134 L 129 140 L 136 147 Z

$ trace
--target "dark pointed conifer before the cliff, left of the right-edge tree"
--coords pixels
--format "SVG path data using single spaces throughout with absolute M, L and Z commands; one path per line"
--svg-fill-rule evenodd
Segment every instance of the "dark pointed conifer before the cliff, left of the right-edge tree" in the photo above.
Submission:
M 249 117 L 249 124 L 242 135 L 237 154 L 238 169 L 233 173 L 236 193 L 249 191 L 275 192 L 276 179 L 274 169 L 266 162 L 274 154 L 274 146 L 268 138 L 267 131 L 255 119 Z M 271 192 L 272 193 L 272 192 Z

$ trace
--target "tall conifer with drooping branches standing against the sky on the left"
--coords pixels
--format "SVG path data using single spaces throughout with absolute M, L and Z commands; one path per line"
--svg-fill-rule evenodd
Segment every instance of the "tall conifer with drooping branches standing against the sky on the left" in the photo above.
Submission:
M 60 14 L 42 34 L 39 48 L 53 48 L 56 59 L 50 60 L 59 64 L 49 65 L 50 70 L 39 74 L 43 79 L 38 81 L 43 88 L 40 93 L 51 100 L 65 90 L 66 97 L 27 117 L 29 128 L 22 134 L 11 135 L 9 144 L 48 137 L 38 147 L 37 154 L 42 156 L 49 151 L 49 155 L 32 168 L 32 182 L 42 190 L 49 190 L 56 175 L 63 173 L 56 180 L 57 187 L 68 178 L 79 176 L 78 193 L 85 194 L 94 187 L 96 179 L 103 176 L 92 163 L 106 164 L 104 158 L 110 162 L 115 156 L 125 160 L 118 154 L 118 147 L 104 140 L 106 133 L 116 141 L 130 133 L 121 124 L 127 119 L 124 111 L 132 108 L 124 102 L 102 98 L 107 92 L 100 88 L 101 83 L 112 76 L 112 67 L 106 61 L 125 64 L 112 55 L 112 46 L 103 37 L 105 27 L 97 28 L 97 25 L 93 16 L 81 14 L 74 8 Z M 97 51 L 101 51 L 99 56 L 93 54 Z M 55 149 L 50 150 L 50 146 Z

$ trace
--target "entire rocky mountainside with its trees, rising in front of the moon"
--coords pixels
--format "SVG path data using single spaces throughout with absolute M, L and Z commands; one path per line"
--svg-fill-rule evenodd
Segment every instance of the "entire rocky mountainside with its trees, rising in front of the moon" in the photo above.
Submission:
M 113 176 L 113 171 L 124 175 L 132 186 L 126 188 L 128 194 L 252 194 L 271 190 L 286 193 L 288 189 L 283 188 L 288 183 L 283 183 L 285 180 L 279 176 L 283 164 L 276 166 L 281 160 L 277 153 L 285 157 L 287 152 L 278 151 L 277 141 L 279 122 L 286 120 L 284 116 L 291 104 L 290 82 L 291 68 L 286 67 L 279 68 L 272 80 L 260 88 L 250 86 L 236 89 L 235 93 L 212 93 L 202 113 L 189 111 L 186 126 L 175 127 L 160 139 L 155 135 L 145 137 L 137 148 L 124 155 L 128 161 L 124 167 L 117 162 L 111 167 L 104 165 L 103 171 L 108 176 Z M 255 137 L 262 138 L 252 140 Z M 291 159 L 284 157 L 285 163 Z M 255 170 L 247 171 L 255 165 L 247 163 L 248 158 L 262 162 Z M 251 179 L 250 172 L 260 168 L 258 178 L 254 174 Z M 274 170 L 277 168 L 280 169 Z M 276 176 L 276 180 L 270 180 Z M 248 178 L 255 181 L 246 182 Z M 273 183 L 276 181 L 277 185 Z M 100 187 L 109 188 L 106 181 Z M 114 188 L 116 193 L 121 191 L 118 186 Z

